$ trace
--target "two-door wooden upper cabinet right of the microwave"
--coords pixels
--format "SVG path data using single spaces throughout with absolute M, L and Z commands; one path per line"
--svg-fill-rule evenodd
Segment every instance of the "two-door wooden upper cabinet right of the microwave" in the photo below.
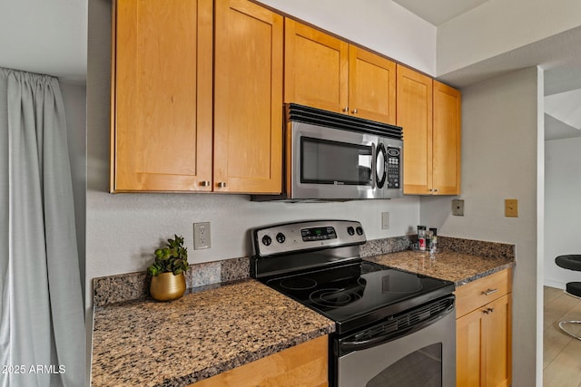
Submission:
M 460 92 L 397 67 L 397 125 L 404 136 L 404 193 L 460 193 Z

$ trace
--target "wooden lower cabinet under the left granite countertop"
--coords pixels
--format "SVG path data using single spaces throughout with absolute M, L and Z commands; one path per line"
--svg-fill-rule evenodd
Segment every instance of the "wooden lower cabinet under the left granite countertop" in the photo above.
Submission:
M 189 387 L 327 387 L 328 336 L 301 343 Z

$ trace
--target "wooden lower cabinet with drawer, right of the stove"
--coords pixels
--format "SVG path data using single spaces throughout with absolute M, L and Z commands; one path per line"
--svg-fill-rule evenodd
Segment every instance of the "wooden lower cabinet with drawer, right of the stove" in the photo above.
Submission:
M 510 282 L 507 269 L 457 289 L 458 387 L 508 387 L 511 383 Z

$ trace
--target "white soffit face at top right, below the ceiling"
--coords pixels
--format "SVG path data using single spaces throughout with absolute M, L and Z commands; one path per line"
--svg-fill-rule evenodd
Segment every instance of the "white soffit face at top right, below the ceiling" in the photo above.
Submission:
M 437 74 L 581 25 L 578 0 L 488 0 L 438 27 Z

